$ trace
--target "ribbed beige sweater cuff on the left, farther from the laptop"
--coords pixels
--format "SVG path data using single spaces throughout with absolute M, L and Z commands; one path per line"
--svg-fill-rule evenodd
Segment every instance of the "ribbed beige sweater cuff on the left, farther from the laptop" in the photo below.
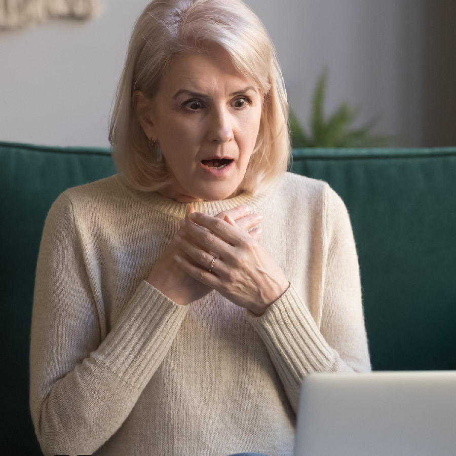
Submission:
M 148 282 L 137 288 L 128 307 L 98 351 L 123 381 L 143 388 L 159 367 L 188 312 Z

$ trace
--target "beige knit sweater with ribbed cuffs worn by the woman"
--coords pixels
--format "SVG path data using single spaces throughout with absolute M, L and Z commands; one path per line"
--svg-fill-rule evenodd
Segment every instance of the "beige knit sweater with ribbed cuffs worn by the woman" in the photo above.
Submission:
M 37 264 L 30 407 L 45 454 L 292 453 L 302 378 L 370 369 L 347 210 L 321 181 L 196 203 L 249 205 L 291 286 L 261 317 L 216 292 L 177 306 L 145 282 L 184 203 L 119 176 L 68 189 Z

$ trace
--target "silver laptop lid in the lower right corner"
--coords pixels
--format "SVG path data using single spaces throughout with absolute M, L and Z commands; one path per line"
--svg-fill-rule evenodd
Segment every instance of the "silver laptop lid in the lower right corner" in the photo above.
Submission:
M 294 456 L 456 456 L 456 371 L 309 375 Z

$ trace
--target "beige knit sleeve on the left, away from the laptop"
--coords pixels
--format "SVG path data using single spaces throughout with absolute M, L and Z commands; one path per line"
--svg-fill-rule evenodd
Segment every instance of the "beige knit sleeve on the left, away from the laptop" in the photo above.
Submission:
M 92 454 L 122 425 L 187 312 L 142 282 L 101 337 L 72 206 L 46 219 L 37 262 L 30 345 L 30 410 L 46 455 Z

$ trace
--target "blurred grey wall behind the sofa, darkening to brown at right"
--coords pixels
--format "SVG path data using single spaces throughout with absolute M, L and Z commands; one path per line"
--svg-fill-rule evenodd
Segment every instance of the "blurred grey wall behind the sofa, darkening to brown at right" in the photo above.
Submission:
M 0 31 L 0 140 L 108 146 L 109 112 L 144 0 L 105 0 L 89 21 Z M 378 116 L 399 146 L 456 145 L 455 0 L 246 0 L 269 30 L 288 100 L 307 128 L 328 70 L 325 110 Z

